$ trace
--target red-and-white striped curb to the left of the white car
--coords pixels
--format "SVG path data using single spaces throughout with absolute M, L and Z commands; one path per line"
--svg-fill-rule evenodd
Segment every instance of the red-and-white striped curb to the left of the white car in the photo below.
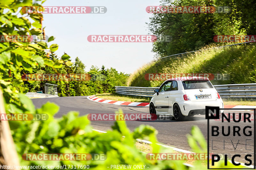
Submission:
M 88 96 L 87 99 L 100 102 L 100 103 L 112 104 L 112 105 L 149 107 L 149 103 L 107 100 L 107 99 L 101 99 L 101 98 L 95 97 L 95 95 Z

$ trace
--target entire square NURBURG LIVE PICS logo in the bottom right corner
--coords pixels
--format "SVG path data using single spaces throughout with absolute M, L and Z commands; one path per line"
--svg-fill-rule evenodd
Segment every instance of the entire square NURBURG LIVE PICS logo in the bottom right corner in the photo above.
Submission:
M 205 107 L 208 135 L 208 169 L 256 168 L 255 110 L 255 108 L 220 109 L 219 107 Z M 209 153 L 212 153 L 211 163 L 209 162 Z M 224 166 L 227 168 L 215 168 L 221 160 L 224 160 Z M 237 168 L 228 168 L 228 162 L 231 162 Z M 243 165 L 243 167 L 240 165 Z

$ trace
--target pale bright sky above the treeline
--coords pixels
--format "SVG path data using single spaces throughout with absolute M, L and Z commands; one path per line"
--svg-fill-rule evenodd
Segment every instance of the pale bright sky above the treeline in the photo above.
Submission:
M 45 34 L 54 36 L 58 56 L 66 52 L 74 62 L 78 57 L 90 70 L 92 65 L 113 67 L 133 73 L 154 59 L 152 42 L 88 42 L 89 35 L 147 35 L 146 22 L 152 14 L 147 6 L 159 0 L 47 0 L 43 6 L 105 6 L 103 14 L 43 14 Z

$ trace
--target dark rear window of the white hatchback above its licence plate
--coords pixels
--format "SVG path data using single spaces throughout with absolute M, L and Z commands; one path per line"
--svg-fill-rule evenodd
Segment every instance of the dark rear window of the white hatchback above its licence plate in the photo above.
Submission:
M 209 80 L 186 80 L 183 81 L 182 84 L 185 90 L 213 88 Z

